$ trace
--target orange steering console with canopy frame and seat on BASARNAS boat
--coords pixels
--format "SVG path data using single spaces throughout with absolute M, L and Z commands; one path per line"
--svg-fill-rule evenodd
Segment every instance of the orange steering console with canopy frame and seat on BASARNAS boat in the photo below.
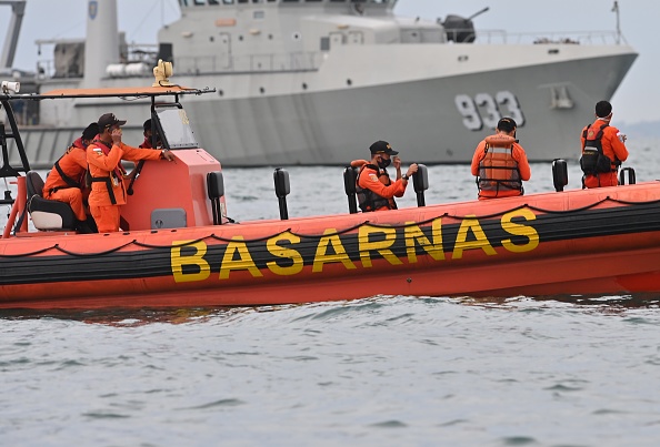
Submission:
M 161 65 L 168 62 L 160 61 Z M 169 72 L 167 67 L 158 73 Z M 163 71 L 166 70 L 166 71 Z M 154 71 L 156 73 L 156 71 Z M 161 77 L 162 78 L 162 77 Z M 4 90 L 4 89 L 3 89 Z M 46 200 L 41 196 L 43 179 L 30 169 L 21 135 L 12 112 L 12 100 L 59 100 L 81 98 L 129 99 L 148 98 L 148 106 L 153 134 L 160 135 L 158 150 L 172 152 L 174 160 L 142 161 L 133 172 L 124 179 L 129 194 L 128 203 L 121 207 L 121 230 L 133 232 L 140 230 L 184 228 L 206 225 L 219 225 L 229 220 L 226 217 L 226 204 L 220 163 L 197 142 L 190 119 L 180 98 L 187 94 L 213 92 L 212 89 L 197 90 L 181 88 L 163 82 L 157 77 L 153 87 L 127 89 L 71 89 L 58 90 L 43 94 L 17 95 L 16 92 L 3 91 L 0 103 L 7 115 L 10 129 L 0 124 L 0 144 L 2 146 L 2 167 L 0 177 L 16 177 L 19 200 L 6 192 L 3 203 L 12 204 L 12 216 L 6 228 L 6 236 L 28 233 L 26 224 L 29 214 L 37 234 L 48 235 L 53 231 L 73 233 L 76 220 L 68 204 Z M 8 140 L 14 140 L 21 165 L 10 162 Z M 12 159 L 16 160 L 16 156 Z M 26 176 L 22 176 L 22 173 Z M 212 184 L 211 184 L 212 183 Z M 212 187 L 211 187 L 212 186 Z M 7 231 L 9 230 L 9 231 Z

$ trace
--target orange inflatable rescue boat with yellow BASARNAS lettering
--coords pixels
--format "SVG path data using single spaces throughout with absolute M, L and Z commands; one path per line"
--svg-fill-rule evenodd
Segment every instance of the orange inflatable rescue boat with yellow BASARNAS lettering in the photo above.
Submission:
M 419 206 L 364 214 L 356 211 L 354 171 L 347 167 L 351 212 L 301 219 L 287 216 L 288 173 L 278 169 L 282 219 L 236 223 L 227 217 L 220 163 L 197 144 L 180 102 L 208 92 L 169 85 L 0 94 L 10 126 L 0 128 L 0 175 L 16 179 L 18 191 L 0 201 L 12 204 L 0 240 L 0 308 L 660 292 L 660 182 L 562 191 L 561 161 L 556 192 L 429 206 L 422 166 L 413 179 Z M 61 203 L 39 196 L 11 111 L 16 100 L 80 98 L 148 98 L 176 155 L 141 166 L 118 233 L 78 234 L 67 211 L 53 209 Z

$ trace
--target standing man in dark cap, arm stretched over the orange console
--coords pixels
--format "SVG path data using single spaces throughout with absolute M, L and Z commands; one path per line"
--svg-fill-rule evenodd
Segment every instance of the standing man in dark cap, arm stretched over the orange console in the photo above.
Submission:
M 97 222 L 100 233 L 119 231 L 120 210 L 126 204 L 127 193 L 123 184 L 126 171 L 121 166 L 122 160 L 174 160 L 168 150 L 153 151 L 138 149 L 121 142 L 120 121 L 113 113 L 106 113 L 99 118 L 99 135 L 87 148 L 87 162 L 91 174 L 91 193 L 89 209 Z

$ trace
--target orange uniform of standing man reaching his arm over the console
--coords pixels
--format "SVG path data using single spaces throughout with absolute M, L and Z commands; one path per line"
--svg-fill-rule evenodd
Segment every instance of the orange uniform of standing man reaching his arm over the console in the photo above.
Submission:
M 119 231 L 119 206 L 126 204 L 127 199 L 121 160 L 136 162 L 160 159 L 161 151 L 132 148 L 124 143 L 112 144 L 108 150 L 102 142 L 94 141 L 87 148 L 87 162 L 92 177 L 89 209 L 99 233 Z

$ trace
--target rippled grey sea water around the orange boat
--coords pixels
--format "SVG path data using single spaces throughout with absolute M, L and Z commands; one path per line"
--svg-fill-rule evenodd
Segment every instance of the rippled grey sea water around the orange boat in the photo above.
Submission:
M 638 181 L 660 177 L 657 143 L 629 142 Z M 341 167 L 287 170 L 290 217 L 348 211 Z M 469 166 L 429 180 L 429 205 L 476 196 Z M 271 167 L 227 169 L 229 215 L 278 219 L 272 184 Z M 532 164 L 527 193 L 552 190 Z M 659 301 L 3 311 L 0 445 L 656 446 Z

